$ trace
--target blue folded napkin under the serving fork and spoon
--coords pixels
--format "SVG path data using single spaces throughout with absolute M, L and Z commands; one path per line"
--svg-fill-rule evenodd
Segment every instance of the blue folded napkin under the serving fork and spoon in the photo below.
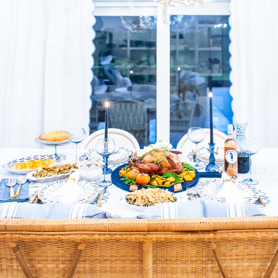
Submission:
M 10 187 L 6 185 L 6 178 L 3 178 L 1 180 L 0 185 L 0 203 L 3 202 L 27 202 L 29 200 L 29 180 L 27 180 L 26 183 L 21 185 L 19 196 L 17 198 L 14 198 L 11 200 L 10 198 Z M 16 190 L 18 188 L 18 184 L 13 186 L 14 193 L 16 193 Z

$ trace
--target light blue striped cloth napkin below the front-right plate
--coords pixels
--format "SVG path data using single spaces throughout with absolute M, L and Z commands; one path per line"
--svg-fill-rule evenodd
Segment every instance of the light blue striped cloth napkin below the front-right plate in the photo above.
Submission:
M 148 208 L 138 218 L 202 218 L 265 216 L 258 205 L 217 202 L 197 198 L 190 202 L 163 203 Z

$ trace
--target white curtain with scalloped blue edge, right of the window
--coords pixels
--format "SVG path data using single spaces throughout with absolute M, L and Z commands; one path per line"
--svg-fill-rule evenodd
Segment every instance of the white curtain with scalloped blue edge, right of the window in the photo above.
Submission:
M 247 121 L 247 135 L 260 147 L 277 147 L 278 3 L 231 0 L 230 93 L 234 121 Z

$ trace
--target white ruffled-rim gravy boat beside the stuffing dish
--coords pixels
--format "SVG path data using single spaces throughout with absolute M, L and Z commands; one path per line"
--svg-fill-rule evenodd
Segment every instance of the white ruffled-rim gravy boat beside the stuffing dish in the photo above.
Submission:
M 99 158 L 94 158 L 90 161 L 85 160 L 83 162 L 78 162 L 76 164 L 78 169 L 72 170 L 78 171 L 80 175 L 80 180 L 88 180 L 89 182 L 93 182 L 101 177 L 103 165 L 103 160 Z

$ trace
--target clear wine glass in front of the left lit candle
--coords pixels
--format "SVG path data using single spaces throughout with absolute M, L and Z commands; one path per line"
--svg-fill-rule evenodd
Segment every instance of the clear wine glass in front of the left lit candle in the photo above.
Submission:
M 96 142 L 96 152 L 101 155 L 104 159 L 104 178 L 103 181 L 98 182 L 98 186 L 109 186 L 112 184 L 111 181 L 105 180 L 106 175 L 106 159 L 108 159 L 109 155 L 115 152 L 115 142 L 111 138 L 102 138 L 98 139 Z

